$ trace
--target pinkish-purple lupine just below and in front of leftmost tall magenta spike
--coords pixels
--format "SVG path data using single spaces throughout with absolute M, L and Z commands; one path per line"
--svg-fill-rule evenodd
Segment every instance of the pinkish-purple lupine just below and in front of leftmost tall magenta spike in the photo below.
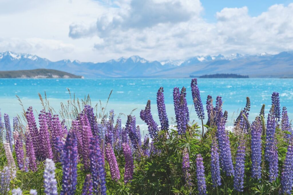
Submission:
M 28 157 L 28 165 L 29 165 L 30 170 L 36 171 L 37 164 L 36 164 L 36 157 L 35 157 L 35 149 L 33 146 L 33 139 L 31 138 L 29 127 L 27 127 L 25 137 L 26 137 L 25 151 L 26 151 L 26 156 Z

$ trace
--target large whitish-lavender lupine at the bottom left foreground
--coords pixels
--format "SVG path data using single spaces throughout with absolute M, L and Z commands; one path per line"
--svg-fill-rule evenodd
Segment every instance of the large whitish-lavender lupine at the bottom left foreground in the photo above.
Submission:
M 44 192 L 46 195 L 58 195 L 57 181 L 55 179 L 55 163 L 52 159 L 47 158 L 44 170 Z

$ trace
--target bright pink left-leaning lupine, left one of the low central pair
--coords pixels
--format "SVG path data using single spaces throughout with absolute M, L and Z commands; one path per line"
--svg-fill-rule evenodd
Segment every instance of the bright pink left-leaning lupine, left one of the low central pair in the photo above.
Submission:
M 112 180 L 118 181 L 120 179 L 120 171 L 118 168 L 117 160 L 110 143 L 106 145 L 105 148 L 106 159 L 109 163 L 110 173 Z

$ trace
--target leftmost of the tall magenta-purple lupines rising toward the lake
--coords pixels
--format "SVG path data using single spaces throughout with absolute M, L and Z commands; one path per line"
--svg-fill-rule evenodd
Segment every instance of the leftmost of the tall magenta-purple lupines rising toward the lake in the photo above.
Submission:
M 33 107 L 29 107 L 28 111 L 26 112 L 26 120 L 28 122 L 28 128 L 30 133 L 30 138 L 33 140 L 33 146 L 34 146 L 34 153 L 37 158 L 40 157 L 39 148 L 41 146 L 40 143 L 42 143 L 41 137 L 39 136 L 39 130 L 35 121 L 35 116 L 33 113 Z

